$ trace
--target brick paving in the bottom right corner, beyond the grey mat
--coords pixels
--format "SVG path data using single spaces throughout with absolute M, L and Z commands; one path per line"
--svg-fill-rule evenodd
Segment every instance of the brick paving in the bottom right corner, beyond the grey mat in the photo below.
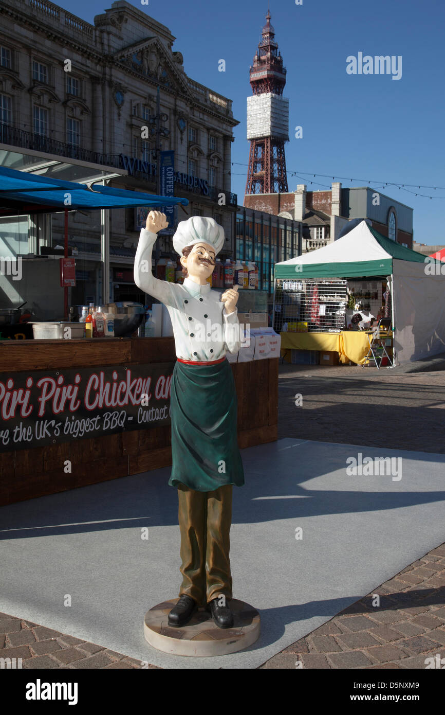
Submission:
M 425 669 L 445 657 L 444 603 L 445 543 L 260 668 Z

